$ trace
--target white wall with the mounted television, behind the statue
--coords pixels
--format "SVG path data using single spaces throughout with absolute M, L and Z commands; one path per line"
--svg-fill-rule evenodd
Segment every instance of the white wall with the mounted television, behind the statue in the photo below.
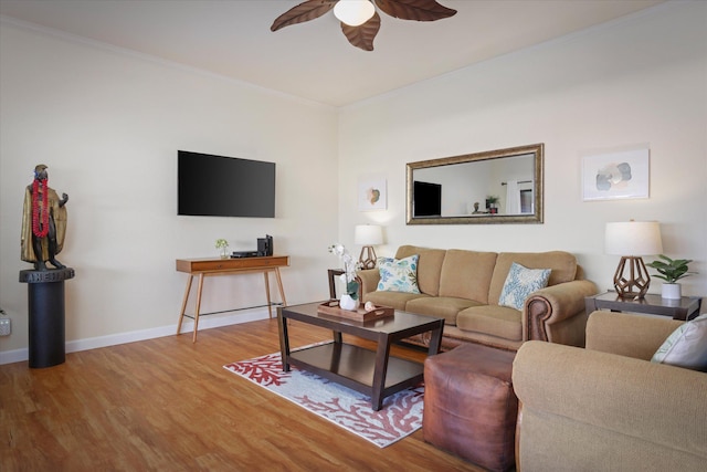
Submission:
M 40 162 L 50 186 L 70 196 L 57 258 L 76 271 L 65 283 L 68 350 L 172 334 L 187 281 L 175 260 L 215 256 L 217 238 L 252 250 L 272 234 L 276 252 L 291 255 L 282 271 L 287 301 L 328 296 L 326 269 L 336 261 L 327 247 L 338 233 L 336 109 L 1 27 L 0 306 L 13 334 L 0 337 L 0 364 L 27 356 L 28 289 L 18 274 L 31 265 L 20 260 L 20 225 L 24 187 Z M 276 218 L 178 217 L 178 149 L 276 162 Z M 213 277 L 202 312 L 264 302 L 261 274 Z M 251 319 L 266 310 L 222 316 Z

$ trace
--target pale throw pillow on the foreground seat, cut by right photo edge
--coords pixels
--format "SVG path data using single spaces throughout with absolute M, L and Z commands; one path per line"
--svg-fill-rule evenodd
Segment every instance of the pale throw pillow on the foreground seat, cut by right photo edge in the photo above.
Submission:
M 707 314 L 678 326 L 651 361 L 707 371 Z

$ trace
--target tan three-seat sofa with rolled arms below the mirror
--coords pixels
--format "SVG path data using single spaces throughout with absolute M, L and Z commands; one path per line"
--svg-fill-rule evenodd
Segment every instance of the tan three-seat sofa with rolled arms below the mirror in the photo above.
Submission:
M 584 345 L 584 297 L 598 293 L 583 280 L 577 259 L 567 252 L 478 252 L 402 245 L 395 259 L 419 254 L 420 294 L 378 292 L 378 269 L 359 272 L 361 300 L 445 319 L 442 348 L 479 343 L 517 350 L 528 339 Z M 513 262 L 551 269 L 546 289 L 531 294 L 523 311 L 498 305 Z M 429 337 L 410 339 L 426 346 Z

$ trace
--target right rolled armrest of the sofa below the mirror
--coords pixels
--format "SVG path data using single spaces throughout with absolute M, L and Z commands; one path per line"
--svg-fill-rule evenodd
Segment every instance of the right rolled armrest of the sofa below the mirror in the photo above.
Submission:
M 597 285 L 588 280 L 574 280 L 557 285 L 551 285 L 534 292 L 526 300 L 523 313 L 523 338 L 524 340 L 538 339 L 560 344 L 583 345 L 584 325 L 587 313 L 584 297 L 599 293 Z M 582 343 L 574 343 L 577 339 L 553 338 L 560 333 L 553 333 L 553 325 L 560 325 L 576 316 L 584 318 L 584 323 L 578 323 L 569 337 L 581 337 Z

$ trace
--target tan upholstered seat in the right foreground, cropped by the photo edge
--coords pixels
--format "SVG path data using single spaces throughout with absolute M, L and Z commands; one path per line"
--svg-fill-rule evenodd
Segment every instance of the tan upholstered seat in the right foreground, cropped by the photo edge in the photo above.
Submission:
M 648 361 L 682 323 L 594 312 L 585 349 L 524 344 L 518 471 L 706 470 L 707 374 Z

